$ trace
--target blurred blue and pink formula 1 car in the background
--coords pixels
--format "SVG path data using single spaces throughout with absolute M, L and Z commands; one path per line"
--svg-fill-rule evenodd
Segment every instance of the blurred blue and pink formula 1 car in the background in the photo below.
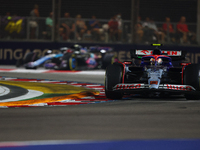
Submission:
M 40 66 L 56 70 L 105 69 L 117 61 L 111 47 L 91 46 L 88 50 L 79 44 L 74 44 L 70 48 L 60 48 L 58 54 L 48 50 L 41 58 L 38 57 L 38 53 L 30 52 L 24 59 L 17 61 L 16 67 L 23 65 L 26 69 L 37 69 Z

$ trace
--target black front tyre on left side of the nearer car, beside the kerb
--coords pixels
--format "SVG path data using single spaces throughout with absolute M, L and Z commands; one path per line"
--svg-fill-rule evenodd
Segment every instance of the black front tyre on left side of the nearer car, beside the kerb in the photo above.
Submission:
M 116 84 L 122 83 L 122 67 L 116 64 L 109 65 L 105 74 L 105 94 L 110 99 L 122 99 L 123 93 L 113 91 Z

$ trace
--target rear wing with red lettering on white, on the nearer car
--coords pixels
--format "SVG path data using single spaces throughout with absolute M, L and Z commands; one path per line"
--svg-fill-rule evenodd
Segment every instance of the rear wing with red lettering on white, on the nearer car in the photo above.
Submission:
M 173 50 L 161 50 L 162 55 L 170 56 L 172 60 L 185 60 L 186 51 L 173 51 Z M 130 50 L 131 58 L 133 59 L 141 59 L 145 55 L 152 55 L 153 50 Z

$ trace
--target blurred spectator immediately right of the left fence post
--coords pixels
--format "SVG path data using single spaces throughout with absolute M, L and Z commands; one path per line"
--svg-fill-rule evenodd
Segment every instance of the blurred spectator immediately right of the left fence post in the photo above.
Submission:
M 68 12 L 64 13 L 64 18 L 61 21 L 61 28 L 63 28 L 63 34 L 66 34 L 65 35 L 66 40 L 70 41 L 70 39 L 74 38 L 75 23 L 73 19 L 70 17 L 70 13 Z

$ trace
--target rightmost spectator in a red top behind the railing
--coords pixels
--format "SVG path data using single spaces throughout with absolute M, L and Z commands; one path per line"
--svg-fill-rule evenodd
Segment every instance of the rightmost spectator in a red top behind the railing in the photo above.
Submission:
M 177 24 L 178 38 L 181 43 L 192 43 L 196 44 L 196 35 L 189 31 L 188 25 L 185 23 L 186 18 L 182 16 L 179 23 Z

